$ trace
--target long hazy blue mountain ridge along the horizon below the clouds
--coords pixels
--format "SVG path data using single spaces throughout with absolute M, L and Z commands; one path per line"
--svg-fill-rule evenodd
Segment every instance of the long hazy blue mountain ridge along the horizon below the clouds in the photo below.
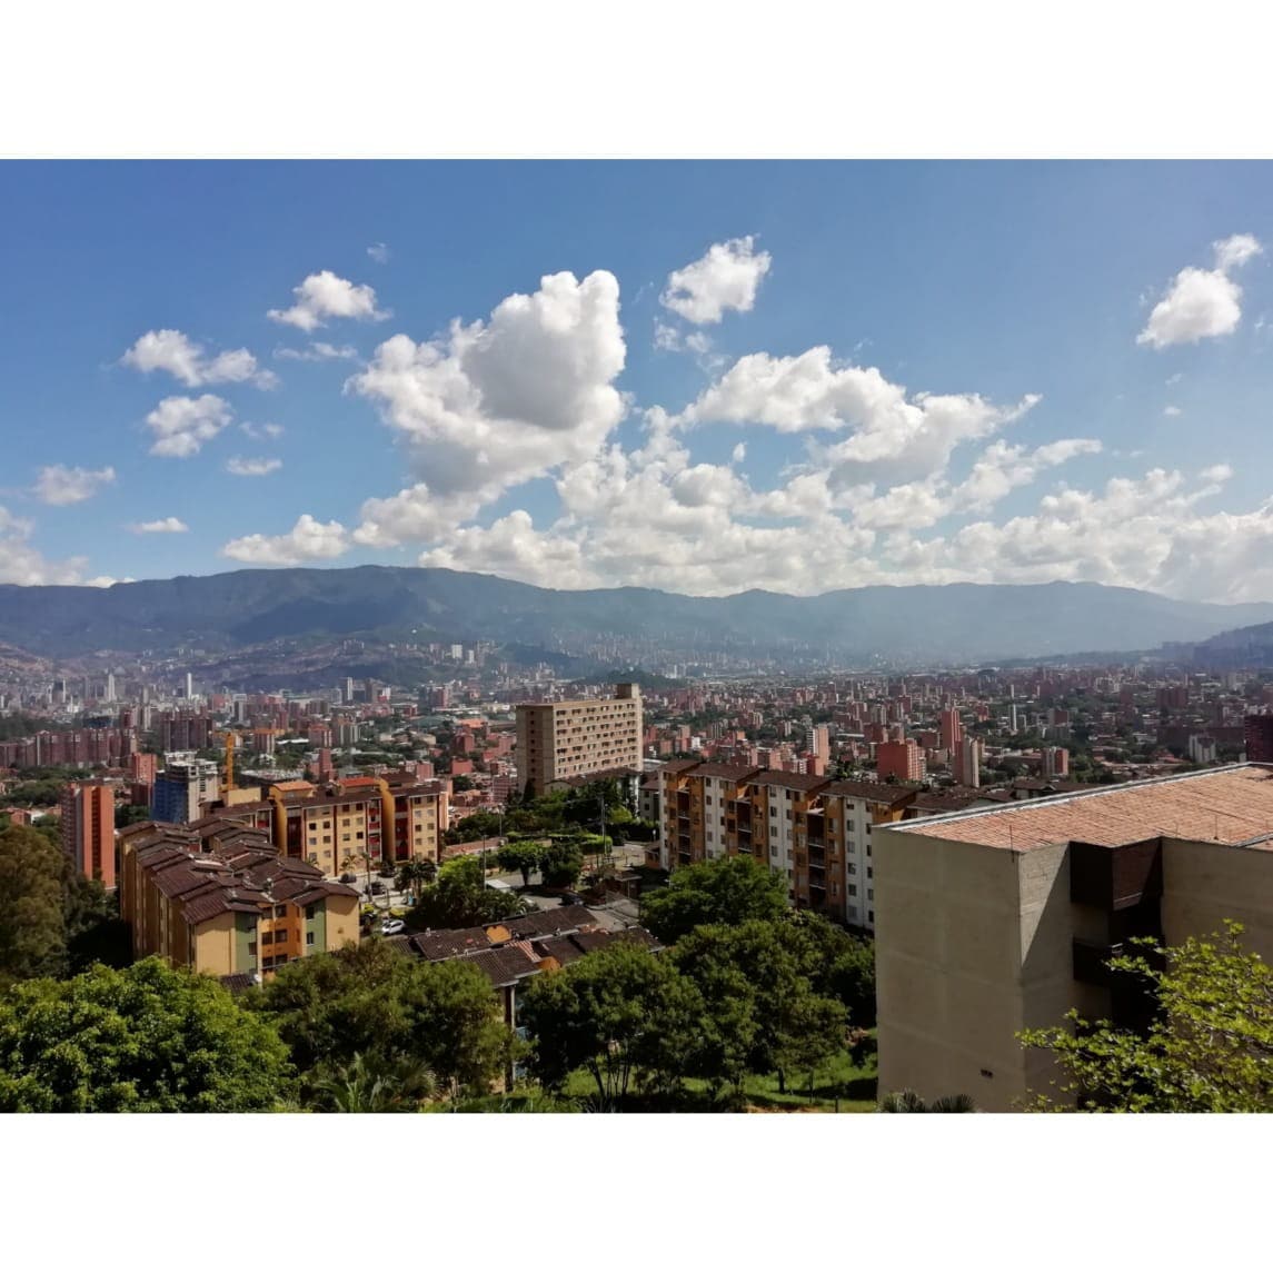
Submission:
M 792 597 L 652 588 L 560 592 L 404 566 L 236 570 L 109 588 L 0 586 L 0 642 L 42 657 L 232 652 L 279 639 L 494 640 L 578 653 L 654 649 L 974 662 L 1150 649 L 1273 621 L 1273 605 L 1171 601 L 1091 583 L 869 587 Z

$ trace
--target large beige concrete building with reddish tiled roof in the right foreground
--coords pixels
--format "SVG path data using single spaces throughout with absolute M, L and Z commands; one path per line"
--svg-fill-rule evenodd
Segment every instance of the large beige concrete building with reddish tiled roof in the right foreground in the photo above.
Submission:
M 1273 766 L 1232 765 L 875 831 L 880 1091 L 1007 1111 L 1049 1091 L 1017 1032 L 1143 1022 L 1132 937 L 1246 927 L 1273 960 Z

